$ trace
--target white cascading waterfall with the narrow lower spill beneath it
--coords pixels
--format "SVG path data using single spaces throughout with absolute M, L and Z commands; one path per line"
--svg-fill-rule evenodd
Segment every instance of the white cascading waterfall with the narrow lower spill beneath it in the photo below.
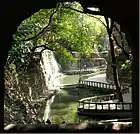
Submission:
M 45 90 L 44 93 L 50 90 L 56 90 L 56 86 L 58 85 L 57 77 L 60 75 L 60 72 L 59 72 L 60 69 L 52 51 L 50 50 L 43 51 L 40 65 L 41 65 L 41 68 L 45 77 L 46 88 L 47 88 L 47 90 Z M 45 122 L 47 119 L 49 119 L 50 105 L 51 103 L 53 103 L 54 98 L 55 98 L 55 95 L 53 95 L 46 102 L 46 107 L 45 107 L 44 117 L 43 117 L 43 120 Z

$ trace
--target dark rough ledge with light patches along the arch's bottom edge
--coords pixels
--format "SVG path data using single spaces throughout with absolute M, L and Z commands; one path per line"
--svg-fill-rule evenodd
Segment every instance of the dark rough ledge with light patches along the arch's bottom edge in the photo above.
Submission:
M 98 122 L 98 123 L 74 123 L 74 124 L 34 124 L 34 125 L 16 125 L 10 124 L 4 128 L 4 132 L 38 132 L 38 133 L 48 133 L 48 132 L 113 132 L 120 133 L 132 132 L 132 122 Z

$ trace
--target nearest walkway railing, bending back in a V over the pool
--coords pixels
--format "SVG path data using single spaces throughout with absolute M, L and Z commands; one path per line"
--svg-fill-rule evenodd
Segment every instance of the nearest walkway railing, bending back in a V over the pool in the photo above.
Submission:
M 115 100 L 114 94 L 94 96 L 79 100 L 78 108 L 91 110 L 132 110 L 132 103 L 107 102 Z

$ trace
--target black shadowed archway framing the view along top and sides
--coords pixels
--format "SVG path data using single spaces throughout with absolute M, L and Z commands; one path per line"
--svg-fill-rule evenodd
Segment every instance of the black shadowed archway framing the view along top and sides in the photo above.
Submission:
M 24 2 L 24 1 L 20 1 L 21 3 L 18 3 L 16 1 L 12 1 L 12 2 L 7 2 L 7 1 L 3 1 L 4 3 L 1 4 L 1 18 L 2 21 L 0 22 L 1 24 L 1 45 L 2 50 L 1 50 L 1 56 L 0 56 L 0 89 L 1 89 L 1 107 L 4 106 L 4 65 L 6 63 L 6 58 L 7 58 L 7 52 L 8 50 L 11 48 L 11 41 L 12 41 L 12 35 L 13 33 L 15 33 L 16 31 L 16 27 L 21 23 L 22 20 L 24 20 L 25 18 L 31 16 L 33 13 L 39 11 L 41 8 L 53 8 L 55 7 L 57 2 L 64 2 L 65 0 L 54 0 L 52 2 L 49 2 L 49 4 L 47 3 L 46 5 L 44 4 L 43 1 L 30 1 L 28 3 L 28 5 Z M 66 0 L 67 2 L 69 1 L 74 1 L 74 0 Z M 78 0 L 77 0 L 78 1 Z M 92 0 L 91 0 L 92 1 Z M 109 2 L 109 1 L 102 1 L 102 0 L 94 0 L 94 1 L 89 1 L 89 0 L 82 0 L 81 4 L 83 4 L 84 6 L 95 6 L 95 7 L 99 7 L 101 9 L 102 12 L 105 12 L 105 14 L 112 18 L 112 15 L 115 15 L 115 11 L 113 11 L 113 8 L 110 8 L 110 10 L 108 9 L 108 11 L 105 11 L 107 8 L 107 5 L 105 4 L 105 2 Z M 42 2 L 42 4 L 40 4 Z M 139 132 L 139 42 L 138 42 L 138 1 L 136 1 L 136 3 L 134 1 L 132 2 L 124 2 L 125 4 L 123 4 L 122 1 L 113 1 L 113 3 L 119 3 L 121 2 L 124 8 L 124 14 L 122 16 L 117 16 L 116 15 L 116 20 L 118 20 L 119 24 L 125 28 L 125 33 L 128 32 L 128 38 L 130 39 L 130 42 L 132 44 L 135 44 L 131 46 L 131 48 L 133 49 L 132 53 L 134 54 L 134 65 L 133 65 L 133 71 L 136 70 L 135 72 L 133 72 L 133 83 L 132 83 L 132 88 L 135 89 L 134 92 L 132 92 L 132 105 L 133 105 L 133 109 L 132 109 L 132 113 L 133 113 L 133 118 L 132 118 L 132 122 L 133 122 L 133 131 L 134 132 Z M 111 7 L 113 4 L 108 3 L 108 7 Z M 109 5 L 110 4 L 110 5 Z M 103 8 L 106 7 L 106 8 Z M 116 5 L 117 6 L 117 5 Z M 128 8 L 128 7 L 129 8 Z M 7 7 L 7 9 L 6 9 Z M 129 11 L 131 8 L 131 12 Z M 16 10 L 17 9 L 17 10 Z M 129 9 L 129 10 L 128 10 Z M 123 9 L 119 8 L 120 11 L 123 11 Z M 126 10 L 126 11 L 125 11 Z M 110 11 L 112 11 L 112 13 L 110 13 Z M 128 13 L 127 13 L 128 12 Z M 132 14 L 131 14 L 132 13 Z M 126 20 L 123 20 L 123 17 L 126 14 Z M 129 14 L 129 15 L 128 15 Z M 128 16 L 127 16 L 128 15 Z M 130 16 L 130 17 L 129 17 Z M 115 17 L 113 18 L 115 19 Z M 133 26 L 133 28 L 131 28 L 130 26 Z M 128 31 L 127 31 L 128 30 Z M 135 40 L 134 40 L 135 39 Z M 130 43 L 130 44 L 131 44 Z M 3 90 L 2 90 L 3 89 Z M 1 111 L 2 112 L 2 111 Z M 3 125 L 3 115 L 4 115 L 4 111 L 1 113 L 1 122 L 0 122 L 0 129 L 1 131 L 4 128 Z

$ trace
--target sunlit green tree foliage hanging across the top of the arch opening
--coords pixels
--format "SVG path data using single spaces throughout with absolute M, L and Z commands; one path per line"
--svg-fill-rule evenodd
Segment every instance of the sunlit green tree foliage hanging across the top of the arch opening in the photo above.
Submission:
M 41 9 L 24 20 L 13 35 L 13 47 L 9 51 L 7 64 L 28 65 L 32 48 L 40 44 L 49 44 L 50 49 L 57 51 L 60 54 L 58 60 L 62 65 L 75 62 L 70 51 L 90 56 L 94 44 L 103 46 L 106 34 L 104 26 L 95 18 L 65 8 L 63 5 L 82 11 L 81 5 L 76 2 L 59 4 L 50 25 L 42 34 L 28 42 L 24 40 L 40 33 L 48 25 L 50 15 L 56 9 Z M 100 19 L 103 20 L 102 17 Z

